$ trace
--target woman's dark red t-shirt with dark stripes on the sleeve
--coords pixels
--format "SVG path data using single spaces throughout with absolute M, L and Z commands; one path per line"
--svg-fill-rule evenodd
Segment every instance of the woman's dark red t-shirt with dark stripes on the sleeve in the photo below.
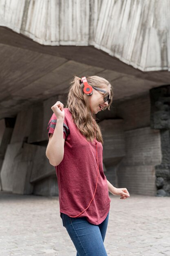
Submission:
M 92 224 L 99 225 L 105 220 L 111 201 L 103 171 L 103 146 L 96 139 L 93 142 L 88 141 L 73 123 L 68 108 L 64 108 L 64 112 L 64 157 L 62 162 L 55 166 L 60 213 L 65 213 L 68 216 L 79 215 L 88 207 L 95 193 L 88 209 L 77 218 L 86 217 Z M 56 116 L 53 114 L 47 128 L 49 135 L 54 132 L 56 122 Z M 97 156 L 95 142 L 97 142 Z M 98 182 L 97 157 L 99 163 Z

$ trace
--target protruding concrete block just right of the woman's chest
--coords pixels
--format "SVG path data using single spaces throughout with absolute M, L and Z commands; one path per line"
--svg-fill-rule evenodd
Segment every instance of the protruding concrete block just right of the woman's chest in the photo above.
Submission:
M 120 162 L 125 156 L 124 121 L 108 119 L 99 122 L 103 135 L 103 161 L 108 168 Z

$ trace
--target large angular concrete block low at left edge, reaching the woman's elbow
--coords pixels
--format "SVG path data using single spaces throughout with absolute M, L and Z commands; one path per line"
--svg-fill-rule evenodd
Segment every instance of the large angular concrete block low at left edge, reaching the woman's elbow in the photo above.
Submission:
M 50 175 L 55 168 L 46 157 L 46 147 L 24 143 L 9 144 L 2 165 L 1 180 L 4 191 L 31 194 L 33 184 Z

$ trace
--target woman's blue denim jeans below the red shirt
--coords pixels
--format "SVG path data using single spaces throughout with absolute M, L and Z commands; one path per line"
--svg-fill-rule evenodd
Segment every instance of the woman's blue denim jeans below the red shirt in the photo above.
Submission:
M 107 256 L 104 238 L 108 226 L 108 216 L 99 225 L 88 222 L 86 217 L 72 218 L 61 213 L 63 226 L 77 250 L 76 256 Z

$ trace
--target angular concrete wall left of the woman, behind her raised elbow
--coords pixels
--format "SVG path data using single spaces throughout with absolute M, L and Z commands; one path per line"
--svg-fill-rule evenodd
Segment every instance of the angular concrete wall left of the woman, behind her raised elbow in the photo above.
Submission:
M 63 95 L 52 97 L 18 113 L 13 133 L 5 143 L 4 120 L 1 120 L 1 148 L 6 145 L 0 172 L 1 189 L 19 194 L 57 195 L 57 176 L 46 157 L 47 125 L 53 111 L 51 106 Z M 1 150 L 2 151 L 2 150 Z M 4 150 L 3 150 L 4 151 Z

